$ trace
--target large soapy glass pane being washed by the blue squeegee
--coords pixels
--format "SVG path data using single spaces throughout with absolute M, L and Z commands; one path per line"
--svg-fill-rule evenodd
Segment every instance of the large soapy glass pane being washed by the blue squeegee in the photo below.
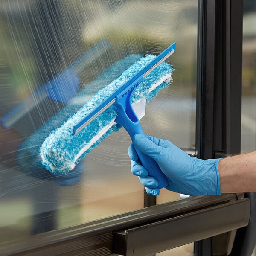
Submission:
M 143 207 L 143 186 L 131 175 L 130 138 L 123 129 L 68 175 L 53 175 L 41 165 L 45 137 L 88 99 L 74 97 L 72 105 L 39 89 L 88 51 L 90 58 L 68 76 L 77 82 L 62 96 L 75 91 L 79 79 L 79 90 L 93 95 L 128 68 L 105 73 L 116 61 L 128 56 L 133 64 L 177 41 L 167 60 L 175 69 L 173 82 L 147 104 L 142 126 L 146 134 L 194 148 L 197 12 L 197 0 L 1 1 L 0 116 L 8 117 L 0 138 L 1 243 Z M 104 83 L 93 82 L 101 75 Z M 162 189 L 157 203 L 177 198 Z

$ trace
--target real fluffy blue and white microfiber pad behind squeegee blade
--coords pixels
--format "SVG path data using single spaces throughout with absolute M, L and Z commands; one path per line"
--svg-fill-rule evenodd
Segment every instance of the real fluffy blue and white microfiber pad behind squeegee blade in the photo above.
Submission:
M 87 113 L 92 111 L 104 99 L 134 76 L 146 64 L 155 58 L 154 55 L 145 55 L 136 61 L 116 80 L 102 90 L 99 90 L 75 115 L 67 120 L 60 128 L 53 131 L 46 138 L 40 148 L 42 164 L 51 172 L 67 173 L 74 169 L 76 164 L 102 140 L 121 126 L 115 123 L 117 111 L 114 106 L 109 107 L 95 120 L 90 122 L 79 134 L 72 135 L 73 126 Z M 131 98 L 131 104 L 137 105 L 141 101 L 148 102 L 172 81 L 172 67 L 163 62 L 146 76 L 137 87 Z

